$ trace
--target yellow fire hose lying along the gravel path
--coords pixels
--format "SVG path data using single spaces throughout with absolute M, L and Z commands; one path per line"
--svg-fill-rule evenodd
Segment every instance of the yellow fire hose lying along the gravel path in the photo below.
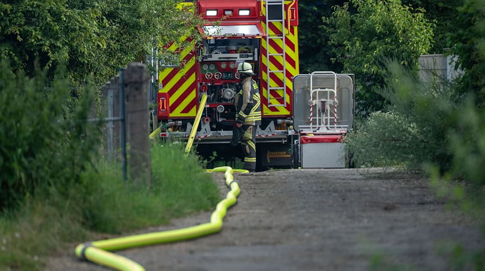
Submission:
M 227 193 L 226 198 L 217 204 L 215 211 L 213 211 L 210 215 L 210 223 L 168 231 L 86 242 L 76 247 L 76 255 L 81 259 L 86 259 L 99 265 L 111 267 L 115 270 L 145 271 L 140 264 L 108 251 L 187 240 L 220 231 L 222 228 L 222 219 L 226 215 L 227 209 L 236 203 L 236 198 L 241 192 L 239 183 L 234 181 L 234 176 L 232 173 L 246 173 L 248 171 L 232 169 L 229 166 L 220 166 L 208 171 L 225 172 L 226 185 L 231 189 Z

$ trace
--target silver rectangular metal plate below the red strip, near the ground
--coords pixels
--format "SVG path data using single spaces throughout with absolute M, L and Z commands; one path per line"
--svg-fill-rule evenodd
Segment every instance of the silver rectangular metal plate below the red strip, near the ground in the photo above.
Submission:
M 302 168 L 345 168 L 343 143 L 308 143 L 302 146 Z

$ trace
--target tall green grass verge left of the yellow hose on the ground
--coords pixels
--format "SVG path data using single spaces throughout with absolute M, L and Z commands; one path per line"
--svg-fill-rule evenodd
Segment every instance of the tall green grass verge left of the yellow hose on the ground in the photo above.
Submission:
M 0 270 L 43 270 L 49 255 L 74 251 L 72 242 L 160 225 L 210 210 L 220 200 L 210 173 L 197 156 L 185 156 L 180 145 L 152 147 L 149 188 L 124 182 L 119 164 L 95 160 L 67 192 L 42 189 L 17 211 L 0 215 Z

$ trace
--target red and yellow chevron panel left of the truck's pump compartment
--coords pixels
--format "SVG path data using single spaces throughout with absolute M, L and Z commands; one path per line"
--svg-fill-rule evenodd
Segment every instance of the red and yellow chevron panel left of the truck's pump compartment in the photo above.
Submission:
M 171 118 L 195 117 L 198 98 L 195 80 L 195 46 L 194 43 L 192 44 L 179 52 L 180 59 L 185 63 L 183 67 L 165 68 L 160 72 L 162 89 L 159 92 L 168 93 Z M 178 47 L 173 44 L 169 49 L 177 51 Z

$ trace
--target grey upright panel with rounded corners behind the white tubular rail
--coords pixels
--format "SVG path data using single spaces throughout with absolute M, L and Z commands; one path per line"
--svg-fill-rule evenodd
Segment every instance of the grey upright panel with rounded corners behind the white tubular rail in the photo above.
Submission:
M 337 75 L 338 125 L 352 128 L 354 124 L 354 81 L 353 75 Z M 330 75 L 313 75 L 313 89 L 333 89 L 334 78 Z M 299 126 L 310 124 L 310 75 L 296 75 L 293 78 L 293 127 L 296 132 Z M 315 97 L 314 97 L 315 98 Z M 330 99 L 334 94 L 330 94 Z M 315 110 L 315 108 L 314 108 Z

